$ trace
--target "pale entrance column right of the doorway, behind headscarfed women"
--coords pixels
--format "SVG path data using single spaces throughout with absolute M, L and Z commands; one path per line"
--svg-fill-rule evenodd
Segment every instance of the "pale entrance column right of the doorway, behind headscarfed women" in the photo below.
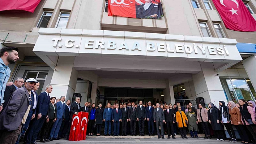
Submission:
M 192 76 L 195 86 L 196 96 L 204 97 L 205 104 L 209 102 L 218 105 L 219 101 L 224 101 L 227 104 L 221 81 L 214 71 L 212 62 L 200 62 L 201 69 L 197 74 Z

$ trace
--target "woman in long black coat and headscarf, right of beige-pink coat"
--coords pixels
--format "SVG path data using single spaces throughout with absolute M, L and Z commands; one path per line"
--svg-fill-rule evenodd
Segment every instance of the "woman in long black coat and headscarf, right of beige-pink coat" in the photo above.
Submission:
M 223 135 L 223 126 L 221 125 L 221 117 L 220 117 L 220 112 L 219 109 L 216 108 L 216 106 L 210 102 L 209 104 L 209 110 L 208 110 L 208 118 L 209 118 L 209 123 L 212 125 L 214 135 L 216 140 L 224 140 L 224 135 Z

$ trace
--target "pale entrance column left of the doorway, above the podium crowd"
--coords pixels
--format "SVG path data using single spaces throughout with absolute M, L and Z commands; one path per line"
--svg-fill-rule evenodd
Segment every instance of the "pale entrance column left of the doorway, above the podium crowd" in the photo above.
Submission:
M 57 99 L 66 96 L 67 100 L 72 100 L 73 93 L 76 90 L 77 70 L 74 69 L 75 57 L 59 56 L 57 66 L 52 75 L 51 85 L 52 93 Z

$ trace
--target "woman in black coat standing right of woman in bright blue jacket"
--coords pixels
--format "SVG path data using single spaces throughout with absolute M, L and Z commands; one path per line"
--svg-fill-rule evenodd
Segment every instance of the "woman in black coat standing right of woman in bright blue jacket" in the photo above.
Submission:
M 101 133 L 101 125 L 103 123 L 103 111 L 104 111 L 104 109 L 102 108 L 102 104 L 100 103 L 99 108 L 97 108 L 96 112 L 95 112 L 97 135 L 100 135 L 100 133 Z

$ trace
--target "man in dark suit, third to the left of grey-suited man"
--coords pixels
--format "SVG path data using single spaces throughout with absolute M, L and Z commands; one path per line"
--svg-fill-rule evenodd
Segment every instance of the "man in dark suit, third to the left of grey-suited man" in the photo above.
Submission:
M 129 110 L 129 121 L 131 123 L 131 135 L 136 135 L 136 109 L 135 103 L 132 102 L 132 106 Z

